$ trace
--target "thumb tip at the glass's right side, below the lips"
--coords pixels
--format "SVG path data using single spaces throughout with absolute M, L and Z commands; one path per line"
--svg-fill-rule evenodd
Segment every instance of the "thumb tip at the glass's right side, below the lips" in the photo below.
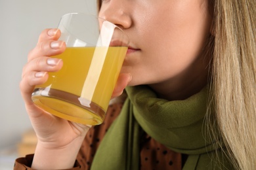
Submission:
M 127 84 L 131 82 L 131 78 L 132 76 L 130 73 L 120 73 L 116 82 L 116 86 L 114 88 L 114 92 L 112 93 L 112 98 L 117 97 L 121 95 L 121 93 L 123 93 L 123 90 L 125 89 Z

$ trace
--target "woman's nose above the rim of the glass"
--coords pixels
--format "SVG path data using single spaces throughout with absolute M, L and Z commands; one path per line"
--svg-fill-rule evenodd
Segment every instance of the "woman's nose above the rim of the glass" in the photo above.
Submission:
M 123 29 L 131 27 L 132 20 L 129 7 L 127 7 L 125 2 L 127 0 L 109 0 L 108 2 L 103 2 L 98 16 Z

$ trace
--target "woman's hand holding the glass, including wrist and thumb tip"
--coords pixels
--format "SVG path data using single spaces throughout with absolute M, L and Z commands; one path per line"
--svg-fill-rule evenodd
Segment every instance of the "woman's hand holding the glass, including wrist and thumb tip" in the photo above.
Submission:
M 62 60 L 51 57 L 66 49 L 65 42 L 58 41 L 59 37 L 59 29 L 45 29 L 41 33 L 37 46 L 28 55 L 28 63 L 24 66 L 20 82 L 26 110 L 38 139 L 32 165 L 37 169 L 72 167 L 85 134 L 91 127 L 53 116 L 39 109 L 31 99 L 35 85 L 46 82 L 48 72 L 62 68 Z M 131 75 L 120 74 L 113 97 L 121 95 L 129 80 Z

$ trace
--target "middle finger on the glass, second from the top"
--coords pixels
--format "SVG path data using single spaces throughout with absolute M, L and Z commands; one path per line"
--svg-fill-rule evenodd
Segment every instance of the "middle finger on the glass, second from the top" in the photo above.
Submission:
M 56 56 L 61 54 L 66 49 L 66 43 L 64 41 L 42 41 L 33 48 L 28 54 L 28 61 L 41 56 Z

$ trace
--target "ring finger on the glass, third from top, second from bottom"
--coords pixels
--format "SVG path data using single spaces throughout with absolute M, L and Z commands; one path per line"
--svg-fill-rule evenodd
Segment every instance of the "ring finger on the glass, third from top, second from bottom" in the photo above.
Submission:
M 32 71 L 56 72 L 62 68 L 63 61 L 59 58 L 40 57 L 26 63 L 22 71 L 22 78 Z

